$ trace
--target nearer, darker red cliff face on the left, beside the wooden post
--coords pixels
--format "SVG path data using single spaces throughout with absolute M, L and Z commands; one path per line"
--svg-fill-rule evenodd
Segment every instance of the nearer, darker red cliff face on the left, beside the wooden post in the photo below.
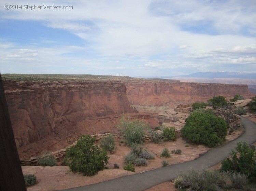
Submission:
M 18 147 L 42 140 L 67 124 L 75 128 L 88 119 L 134 112 L 120 83 L 5 80 L 4 89 Z

